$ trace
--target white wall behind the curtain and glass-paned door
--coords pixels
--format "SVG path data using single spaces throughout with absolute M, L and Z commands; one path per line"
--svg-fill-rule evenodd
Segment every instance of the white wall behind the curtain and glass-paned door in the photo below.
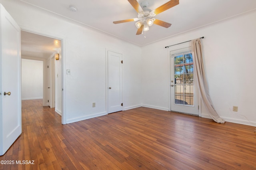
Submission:
M 204 36 L 204 65 L 217 113 L 226 121 L 256 126 L 255 18 L 254 10 L 142 47 L 142 104 L 168 110 L 169 49 L 164 47 Z M 205 109 L 202 117 L 208 117 Z

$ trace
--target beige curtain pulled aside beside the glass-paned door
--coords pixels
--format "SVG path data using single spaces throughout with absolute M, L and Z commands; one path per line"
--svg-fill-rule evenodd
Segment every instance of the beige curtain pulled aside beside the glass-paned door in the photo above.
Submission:
M 200 38 L 192 40 L 192 56 L 194 61 L 194 74 L 196 82 L 198 84 L 198 90 L 200 92 L 202 101 L 208 111 L 208 114 L 215 122 L 225 123 L 225 121 L 221 119 L 218 113 L 214 110 L 212 100 L 209 95 L 208 83 L 206 81 L 206 75 L 204 73 Z

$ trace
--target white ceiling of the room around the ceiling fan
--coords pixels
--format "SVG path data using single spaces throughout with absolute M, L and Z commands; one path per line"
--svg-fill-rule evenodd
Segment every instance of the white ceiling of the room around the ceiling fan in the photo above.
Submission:
M 153 24 L 150 30 L 146 32 L 146 38 L 144 38 L 143 34 L 136 35 L 135 22 L 113 24 L 113 21 L 138 17 L 138 13 L 128 0 L 21 1 L 141 46 L 256 9 L 256 0 L 180 0 L 180 4 L 177 6 L 154 17 L 171 23 L 172 26 L 164 28 Z M 144 0 L 138 0 L 139 3 L 142 1 Z M 169 0 L 147 1 L 149 2 L 147 8 L 154 10 Z M 77 11 L 70 11 L 70 5 L 76 6 Z M 28 41 L 30 40 L 28 39 Z M 23 43 L 23 45 L 25 44 Z M 36 43 L 34 46 L 36 46 Z M 26 49 L 26 47 L 23 47 L 23 49 Z

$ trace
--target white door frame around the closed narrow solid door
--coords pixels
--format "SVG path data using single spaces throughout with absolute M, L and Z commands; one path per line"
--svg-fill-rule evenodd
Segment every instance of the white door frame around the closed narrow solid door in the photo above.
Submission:
M 108 114 L 108 51 L 114 52 L 114 53 L 119 53 L 122 55 L 123 57 L 123 53 L 121 53 L 120 51 L 116 51 L 113 49 L 108 49 L 106 48 L 106 114 Z M 123 67 L 122 67 L 123 70 Z M 122 71 L 122 79 L 121 81 L 123 82 L 123 71 Z M 120 91 L 123 94 L 123 83 L 120 87 Z M 123 101 L 123 95 L 122 95 L 122 101 Z M 124 107 L 122 107 L 122 111 L 124 110 Z

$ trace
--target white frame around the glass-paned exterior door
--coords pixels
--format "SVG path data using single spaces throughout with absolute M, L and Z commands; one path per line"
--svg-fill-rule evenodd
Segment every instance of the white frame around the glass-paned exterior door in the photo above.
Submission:
M 191 47 L 191 42 L 185 42 L 168 47 L 168 111 L 171 111 L 171 51 Z M 198 93 L 198 116 L 201 117 L 201 98 Z

